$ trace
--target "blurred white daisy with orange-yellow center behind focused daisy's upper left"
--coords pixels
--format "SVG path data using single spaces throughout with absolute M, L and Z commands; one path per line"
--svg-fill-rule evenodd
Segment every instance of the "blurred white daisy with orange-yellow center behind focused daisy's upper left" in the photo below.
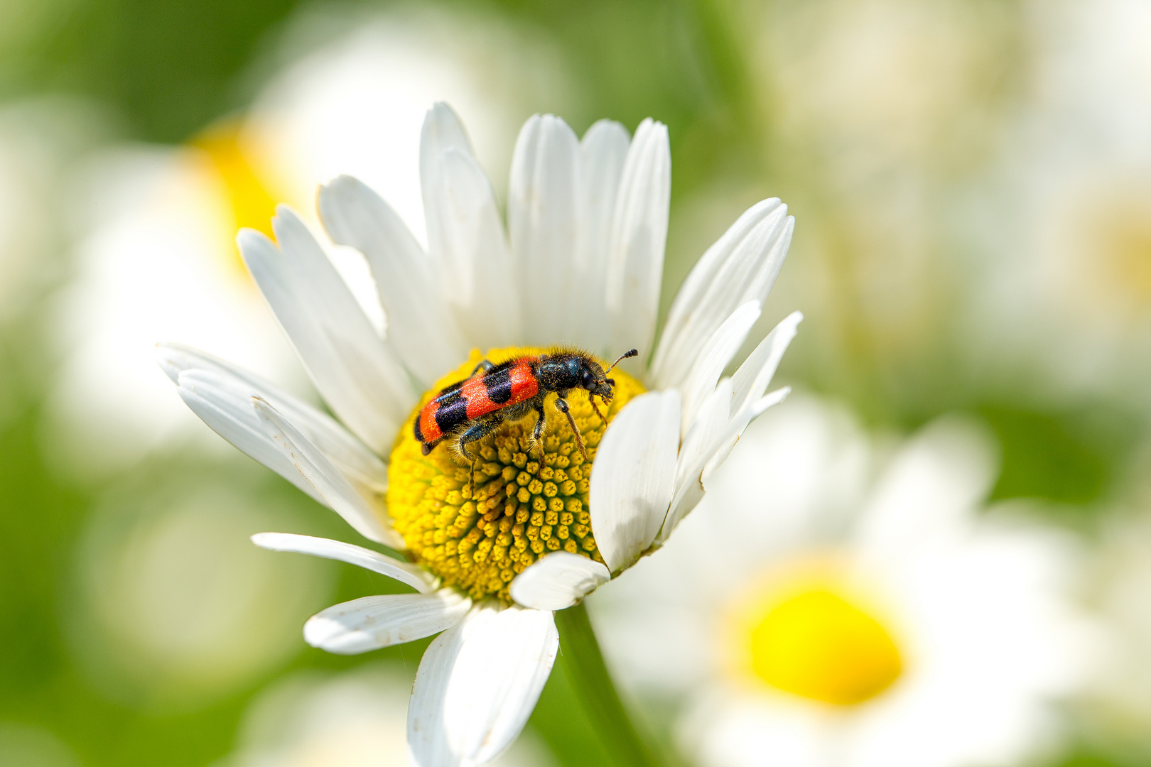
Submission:
M 350 24 L 303 21 L 312 29 Z M 76 465 L 115 467 L 166 442 L 207 436 L 171 401 L 152 362 L 157 338 L 186 339 L 306 389 L 244 269 L 236 230 L 270 235 L 276 202 L 310 209 L 315 185 L 337 172 L 382 184 L 404 202 L 410 224 L 422 227 L 419 125 L 437 98 L 458 99 L 479 129 L 483 159 L 505 162 L 508 148 L 493 137 L 510 135 L 526 113 L 517 98 L 536 92 L 527 83 L 554 67 L 528 51 L 531 66 L 512 76 L 498 55 L 485 60 L 477 48 L 512 39 L 514 30 L 474 22 L 367 16 L 306 55 L 307 44 L 289 32 L 282 71 L 247 114 L 206 128 L 183 147 L 122 146 L 89 163 L 77 182 L 78 275 L 60 302 L 67 355 L 53 397 L 64 427 L 55 442 Z M 495 80 L 502 87 L 486 85 Z M 363 258 L 342 248 L 331 254 L 379 324 Z M 211 444 L 220 443 L 211 437 Z

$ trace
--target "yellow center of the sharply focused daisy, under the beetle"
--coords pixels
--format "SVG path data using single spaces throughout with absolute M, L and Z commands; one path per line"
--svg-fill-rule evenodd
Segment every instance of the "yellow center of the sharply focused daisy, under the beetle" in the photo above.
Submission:
M 542 348 L 491 350 L 471 359 L 436 382 L 399 430 L 388 465 L 388 514 L 407 544 L 409 558 L 471 597 L 496 597 L 510 603 L 508 584 L 524 568 L 551 551 L 567 551 L 602 562 L 592 535 L 588 486 L 596 445 L 607 424 L 593 412 L 587 392 L 567 394 L 571 414 L 584 437 L 588 460 L 576 446 L 567 419 L 544 399 L 547 425 L 540 445 L 531 444 L 534 414 L 505 422 L 468 445 L 480 457 L 475 490 L 470 491 L 471 466 L 458 458 L 451 440 L 424 455 L 412 423 L 420 409 L 444 386 L 463 381 L 483 359 L 498 365 Z M 607 366 L 604 366 L 607 367 Z M 618 368 L 610 406 L 600 411 L 608 422 L 643 386 Z M 541 455 L 542 451 L 542 455 Z

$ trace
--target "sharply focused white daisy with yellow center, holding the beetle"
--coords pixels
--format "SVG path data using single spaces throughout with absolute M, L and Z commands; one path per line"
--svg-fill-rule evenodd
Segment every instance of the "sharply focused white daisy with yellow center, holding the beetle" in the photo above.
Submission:
M 777 199 L 748 209 L 688 275 L 656 343 L 671 182 L 662 124 L 646 120 L 630 137 L 602 121 L 580 140 L 557 117 L 528 120 L 511 163 L 506 235 L 445 105 L 427 114 L 419 167 L 427 250 L 353 178 L 318 195 L 330 238 L 371 264 L 383 337 L 289 208 L 273 221 L 276 241 L 239 235 L 253 278 L 335 419 L 201 352 L 165 345 L 160 360 L 221 436 L 402 552 L 253 538 L 416 589 L 322 611 L 304 637 L 357 653 L 442 632 L 416 677 L 409 745 L 424 767 L 479 765 L 511 744 L 539 698 L 558 644 L 552 611 L 663 545 L 703 496 L 701 477 L 786 394 L 764 392 L 798 313 L 732 377 L 721 375 L 760 316 L 794 223 Z M 571 394 L 586 460 L 550 398 L 539 445 L 528 420 L 471 447 L 482 457 L 474 492 L 471 468 L 449 446 L 422 454 L 413 419 L 443 386 L 481 359 L 498 363 L 561 343 L 600 358 L 639 350 L 613 374 L 610 428 L 586 392 Z

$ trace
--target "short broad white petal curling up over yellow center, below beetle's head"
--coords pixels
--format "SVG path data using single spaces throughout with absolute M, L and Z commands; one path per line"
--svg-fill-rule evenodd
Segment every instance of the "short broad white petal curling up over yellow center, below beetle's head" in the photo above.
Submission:
M 592 531 L 612 573 L 631 566 L 663 524 L 676 483 L 680 399 L 676 390 L 627 402 L 592 466 Z

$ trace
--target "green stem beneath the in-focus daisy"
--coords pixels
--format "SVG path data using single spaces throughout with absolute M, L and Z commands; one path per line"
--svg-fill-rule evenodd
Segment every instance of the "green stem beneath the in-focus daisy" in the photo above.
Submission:
M 607 752 L 620 765 L 660 767 L 616 692 L 584 603 L 557 612 L 556 627 L 569 683 Z

